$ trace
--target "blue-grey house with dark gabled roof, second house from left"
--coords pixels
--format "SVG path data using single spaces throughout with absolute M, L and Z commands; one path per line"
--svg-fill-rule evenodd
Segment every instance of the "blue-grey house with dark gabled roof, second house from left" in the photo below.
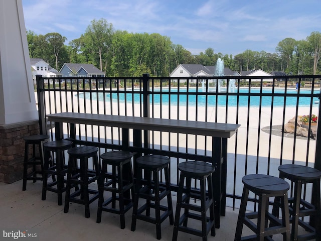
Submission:
M 93 64 L 64 63 L 59 73 L 62 77 L 105 77 L 105 73 Z

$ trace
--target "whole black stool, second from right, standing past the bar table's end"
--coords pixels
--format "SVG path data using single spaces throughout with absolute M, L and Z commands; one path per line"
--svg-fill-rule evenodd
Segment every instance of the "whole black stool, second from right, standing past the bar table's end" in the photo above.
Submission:
M 289 184 L 281 178 L 263 174 L 246 175 L 242 178 L 242 182 L 244 187 L 234 240 L 273 240 L 273 234 L 281 233 L 283 235 L 283 240 L 290 241 L 287 198 L 287 190 L 290 188 Z M 249 191 L 259 197 L 257 212 L 245 213 Z M 269 213 L 270 197 L 280 197 L 281 205 L 277 206 L 281 208 L 282 219 L 278 219 L 278 215 L 273 215 L 273 212 Z M 251 219 L 257 219 L 257 224 Z M 270 221 L 269 227 L 267 226 L 268 220 Z M 241 237 L 243 224 L 248 226 L 255 234 Z

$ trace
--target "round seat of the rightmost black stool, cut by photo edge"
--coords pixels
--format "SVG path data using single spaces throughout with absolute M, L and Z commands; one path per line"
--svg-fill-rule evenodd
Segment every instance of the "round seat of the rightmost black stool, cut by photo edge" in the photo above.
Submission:
M 278 167 L 279 172 L 285 178 L 295 181 L 295 180 L 313 180 L 319 179 L 321 177 L 321 172 L 312 167 L 306 167 L 302 165 L 295 164 L 285 164 Z

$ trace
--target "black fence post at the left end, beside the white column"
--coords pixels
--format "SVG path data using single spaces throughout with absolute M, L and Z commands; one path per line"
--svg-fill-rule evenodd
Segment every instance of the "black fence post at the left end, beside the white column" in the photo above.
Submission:
M 38 116 L 39 116 L 39 130 L 41 135 L 47 135 L 47 123 L 45 112 L 45 97 L 44 82 L 41 74 L 36 75 L 37 82 L 37 97 L 38 97 Z

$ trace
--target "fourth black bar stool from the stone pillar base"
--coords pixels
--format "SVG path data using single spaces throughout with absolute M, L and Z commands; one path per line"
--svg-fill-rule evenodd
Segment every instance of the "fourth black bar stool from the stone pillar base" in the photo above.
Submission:
M 131 158 L 133 154 L 126 151 L 106 152 L 100 156 L 102 159 L 99 177 L 99 201 L 97 222 L 101 221 L 102 211 L 120 215 L 120 228 L 125 228 L 125 213 L 132 207 L 132 199 L 126 198 L 126 191 L 131 190 L 133 196 L 133 173 Z M 107 166 L 112 165 L 112 172 L 107 172 Z M 109 180 L 108 180 L 109 179 Z M 105 182 L 106 180 L 106 182 Z M 117 185 L 118 184 L 118 185 Z M 104 191 L 111 192 L 111 197 L 104 201 Z M 116 195 L 118 193 L 118 196 Z M 119 202 L 119 209 L 116 208 Z M 111 203 L 111 207 L 108 207 Z

